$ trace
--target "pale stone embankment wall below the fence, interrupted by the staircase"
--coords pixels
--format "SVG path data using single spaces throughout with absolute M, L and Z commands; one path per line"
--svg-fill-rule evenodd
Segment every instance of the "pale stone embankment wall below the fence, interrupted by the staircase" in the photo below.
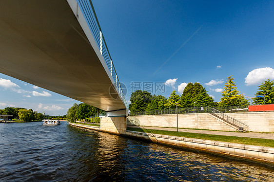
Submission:
M 274 132 L 274 112 L 226 113 L 249 125 L 249 131 Z M 176 127 L 176 114 L 129 116 L 128 125 Z M 178 114 L 178 127 L 236 131 L 237 128 L 209 113 Z

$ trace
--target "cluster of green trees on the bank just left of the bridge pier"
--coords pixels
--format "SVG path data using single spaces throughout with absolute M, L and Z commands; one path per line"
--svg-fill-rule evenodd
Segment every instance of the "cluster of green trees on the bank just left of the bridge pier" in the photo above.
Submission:
M 99 117 L 99 113 L 102 113 L 102 112 L 105 112 L 105 111 L 85 103 L 81 103 L 81 104 L 75 103 L 67 111 L 67 120 L 69 122 L 74 122 L 75 120 L 83 120 L 91 116 Z

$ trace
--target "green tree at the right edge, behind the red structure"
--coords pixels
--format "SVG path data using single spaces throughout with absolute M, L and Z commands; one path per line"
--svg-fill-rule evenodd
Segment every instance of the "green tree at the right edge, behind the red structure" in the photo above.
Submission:
M 255 96 L 265 95 L 264 97 L 254 98 L 252 104 L 262 105 L 264 104 L 273 104 L 274 103 L 274 81 L 270 79 L 264 81 L 261 85 L 258 86 L 258 91 L 255 93 Z

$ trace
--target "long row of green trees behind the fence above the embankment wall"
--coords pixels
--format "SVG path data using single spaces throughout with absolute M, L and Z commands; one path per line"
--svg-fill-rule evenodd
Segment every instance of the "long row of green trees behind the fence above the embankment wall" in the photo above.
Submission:
M 258 87 L 257 95 L 265 95 L 266 104 L 274 102 L 274 81 L 266 80 Z M 173 91 L 167 99 L 163 95 L 152 95 L 148 91 L 137 90 L 131 94 L 131 104 L 129 109 L 131 112 L 175 109 L 176 106 L 181 108 L 191 107 L 232 107 L 232 106 L 247 106 L 249 101 L 237 90 L 234 78 L 227 77 L 227 82 L 224 84 L 222 97 L 220 102 L 214 102 L 213 98 L 208 94 L 206 89 L 198 82 L 188 83 L 181 95 Z M 252 104 L 264 104 L 264 98 L 254 98 Z

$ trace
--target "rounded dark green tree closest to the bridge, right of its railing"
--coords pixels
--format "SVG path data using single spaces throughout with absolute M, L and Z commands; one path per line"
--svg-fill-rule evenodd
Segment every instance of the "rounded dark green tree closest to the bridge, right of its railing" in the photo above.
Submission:
M 129 109 L 131 112 L 144 111 L 151 102 L 151 93 L 137 90 L 131 94 L 130 102 Z

